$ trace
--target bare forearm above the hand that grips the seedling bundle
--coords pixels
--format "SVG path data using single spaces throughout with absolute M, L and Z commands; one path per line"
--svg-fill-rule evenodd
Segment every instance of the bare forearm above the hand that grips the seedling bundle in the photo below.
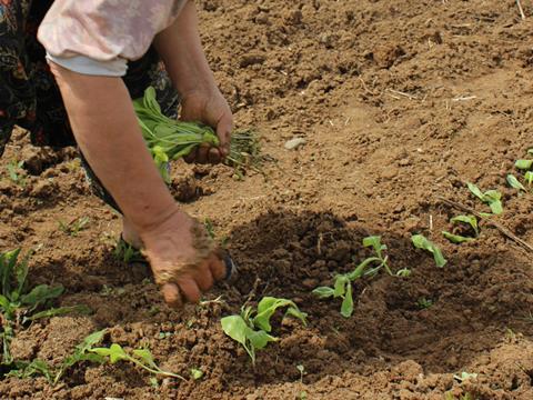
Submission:
M 154 46 L 181 94 L 217 86 L 200 41 L 194 1 L 189 1 L 175 22 L 155 37 Z

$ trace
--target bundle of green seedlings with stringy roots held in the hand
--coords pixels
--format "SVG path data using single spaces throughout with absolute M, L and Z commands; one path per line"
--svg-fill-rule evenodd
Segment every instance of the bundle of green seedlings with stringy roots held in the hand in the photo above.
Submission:
M 218 147 L 220 140 L 214 130 L 200 122 L 178 121 L 164 116 L 155 98 L 155 89 L 149 87 L 144 97 L 133 102 L 142 136 L 163 179 L 169 182 L 168 162 L 187 157 L 200 144 Z M 259 139 L 254 131 L 233 132 L 227 163 L 242 176 L 247 168 L 260 171 L 264 158 L 260 156 Z

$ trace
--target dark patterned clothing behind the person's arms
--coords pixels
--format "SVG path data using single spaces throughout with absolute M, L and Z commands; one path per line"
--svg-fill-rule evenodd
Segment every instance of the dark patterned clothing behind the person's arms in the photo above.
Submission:
M 37 41 L 39 24 L 52 3 L 53 0 L 0 0 L 0 157 L 16 124 L 30 131 L 34 146 L 76 144 L 46 51 Z M 163 112 L 175 116 L 178 93 L 153 48 L 128 64 L 123 80 L 132 99 L 142 97 L 144 89 L 153 86 Z M 117 208 L 90 169 L 88 176 L 97 194 Z

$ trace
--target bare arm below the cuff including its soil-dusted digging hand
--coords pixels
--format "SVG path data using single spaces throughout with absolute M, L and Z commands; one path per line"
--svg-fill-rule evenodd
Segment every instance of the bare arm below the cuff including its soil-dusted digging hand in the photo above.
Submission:
M 77 142 L 143 242 L 154 276 L 172 271 L 162 284 L 165 301 L 181 292 L 198 301 L 224 267 L 214 253 L 200 262 L 191 233 L 193 220 L 180 211 L 142 139 L 128 91 L 120 78 L 84 76 L 51 63 Z M 180 270 L 193 262 L 195 269 Z M 178 289 L 179 288 L 179 289 Z

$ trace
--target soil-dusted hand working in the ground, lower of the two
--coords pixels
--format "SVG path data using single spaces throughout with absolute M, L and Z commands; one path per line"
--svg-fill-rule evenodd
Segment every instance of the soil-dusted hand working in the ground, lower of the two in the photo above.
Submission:
M 174 308 L 184 300 L 198 302 L 201 292 L 225 277 L 205 228 L 177 209 L 165 221 L 140 232 L 143 254 L 150 261 L 164 301 Z M 182 297 L 183 294 L 183 297 Z

